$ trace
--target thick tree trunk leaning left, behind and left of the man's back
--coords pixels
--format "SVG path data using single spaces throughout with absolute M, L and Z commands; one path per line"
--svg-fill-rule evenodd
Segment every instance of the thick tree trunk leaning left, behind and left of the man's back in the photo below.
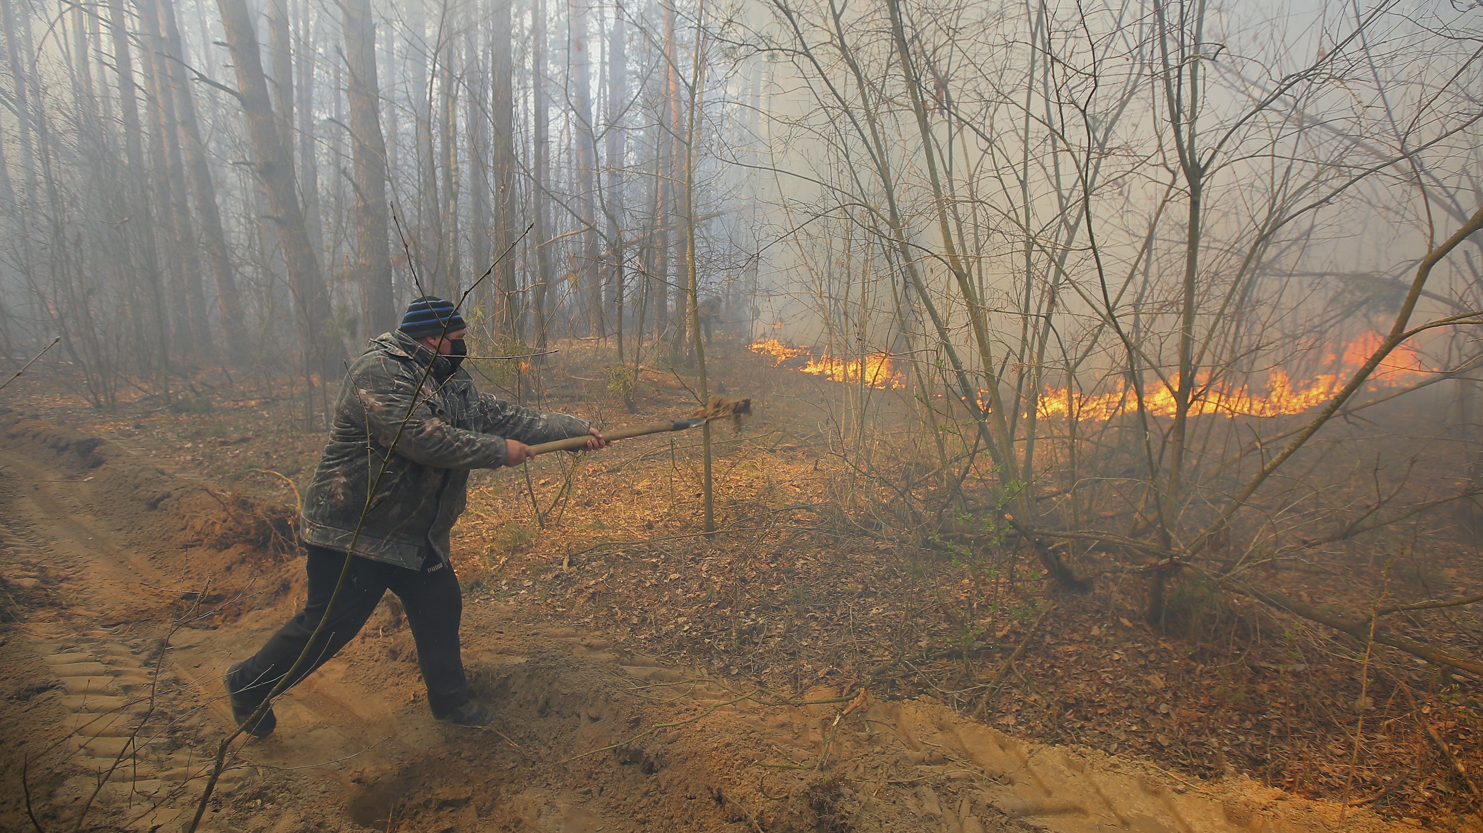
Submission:
M 340 350 L 331 350 L 325 338 L 325 326 L 329 322 L 329 296 L 325 292 L 325 282 L 319 276 L 314 249 L 304 227 L 304 209 L 298 205 L 294 162 L 289 157 L 288 145 L 282 141 L 277 119 L 268 101 L 268 86 L 262 74 L 262 56 L 258 52 L 257 36 L 252 31 L 252 18 L 248 15 L 246 0 L 217 0 L 217 7 L 221 9 L 221 25 L 237 73 L 237 99 L 248 122 L 254 165 L 264 191 L 267 191 L 279 248 L 283 252 L 283 265 L 294 291 L 307 366 L 325 379 L 338 378 L 344 356 Z

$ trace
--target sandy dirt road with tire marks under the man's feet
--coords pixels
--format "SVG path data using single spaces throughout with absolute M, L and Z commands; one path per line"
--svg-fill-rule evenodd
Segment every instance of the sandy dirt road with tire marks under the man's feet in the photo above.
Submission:
M 0 419 L 0 826 L 181 830 L 230 731 L 219 676 L 291 615 L 303 566 L 233 544 L 255 535 L 245 501 Z M 202 829 L 1387 829 L 1244 780 L 1028 744 L 927 700 L 782 701 L 478 596 L 464 642 L 494 731 L 430 719 L 383 603 L 280 700 L 271 738 L 234 749 Z

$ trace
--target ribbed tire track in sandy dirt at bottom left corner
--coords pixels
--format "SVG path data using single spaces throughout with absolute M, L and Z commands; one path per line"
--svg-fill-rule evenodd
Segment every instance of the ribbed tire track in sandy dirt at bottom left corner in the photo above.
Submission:
M 0 470 L 6 572 L 18 565 L 56 578 L 50 603 L 16 625 L 19 648 L 36 660 L 31 688 L 55 692 L 64 714 L 27 726 L 43 735 L 31 771 L 49 781 L 47 809 L 70 826 L 85 814 L 87 826 L 128 830 L 179 823 L 194 809 L 206 762 L 194 695 L 156 673 L 169 621 L 159 572 L 89 511 L 90 477 L 12 449 L 0 451 Z M 222 790 L 242 778 L 240 769 L 224 772 Z

